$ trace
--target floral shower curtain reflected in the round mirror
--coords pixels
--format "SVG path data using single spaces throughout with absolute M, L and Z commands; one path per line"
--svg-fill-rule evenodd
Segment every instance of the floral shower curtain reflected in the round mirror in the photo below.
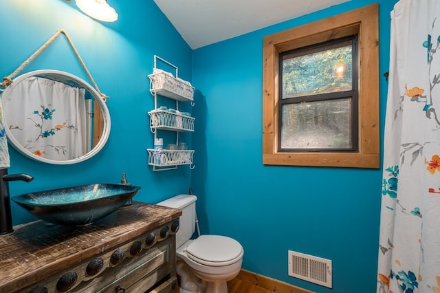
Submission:
M 34 155 L 72 160 L 91 150 L 91 100 L 83 88 L 30 76 L 8 99 L 7 127 Z

